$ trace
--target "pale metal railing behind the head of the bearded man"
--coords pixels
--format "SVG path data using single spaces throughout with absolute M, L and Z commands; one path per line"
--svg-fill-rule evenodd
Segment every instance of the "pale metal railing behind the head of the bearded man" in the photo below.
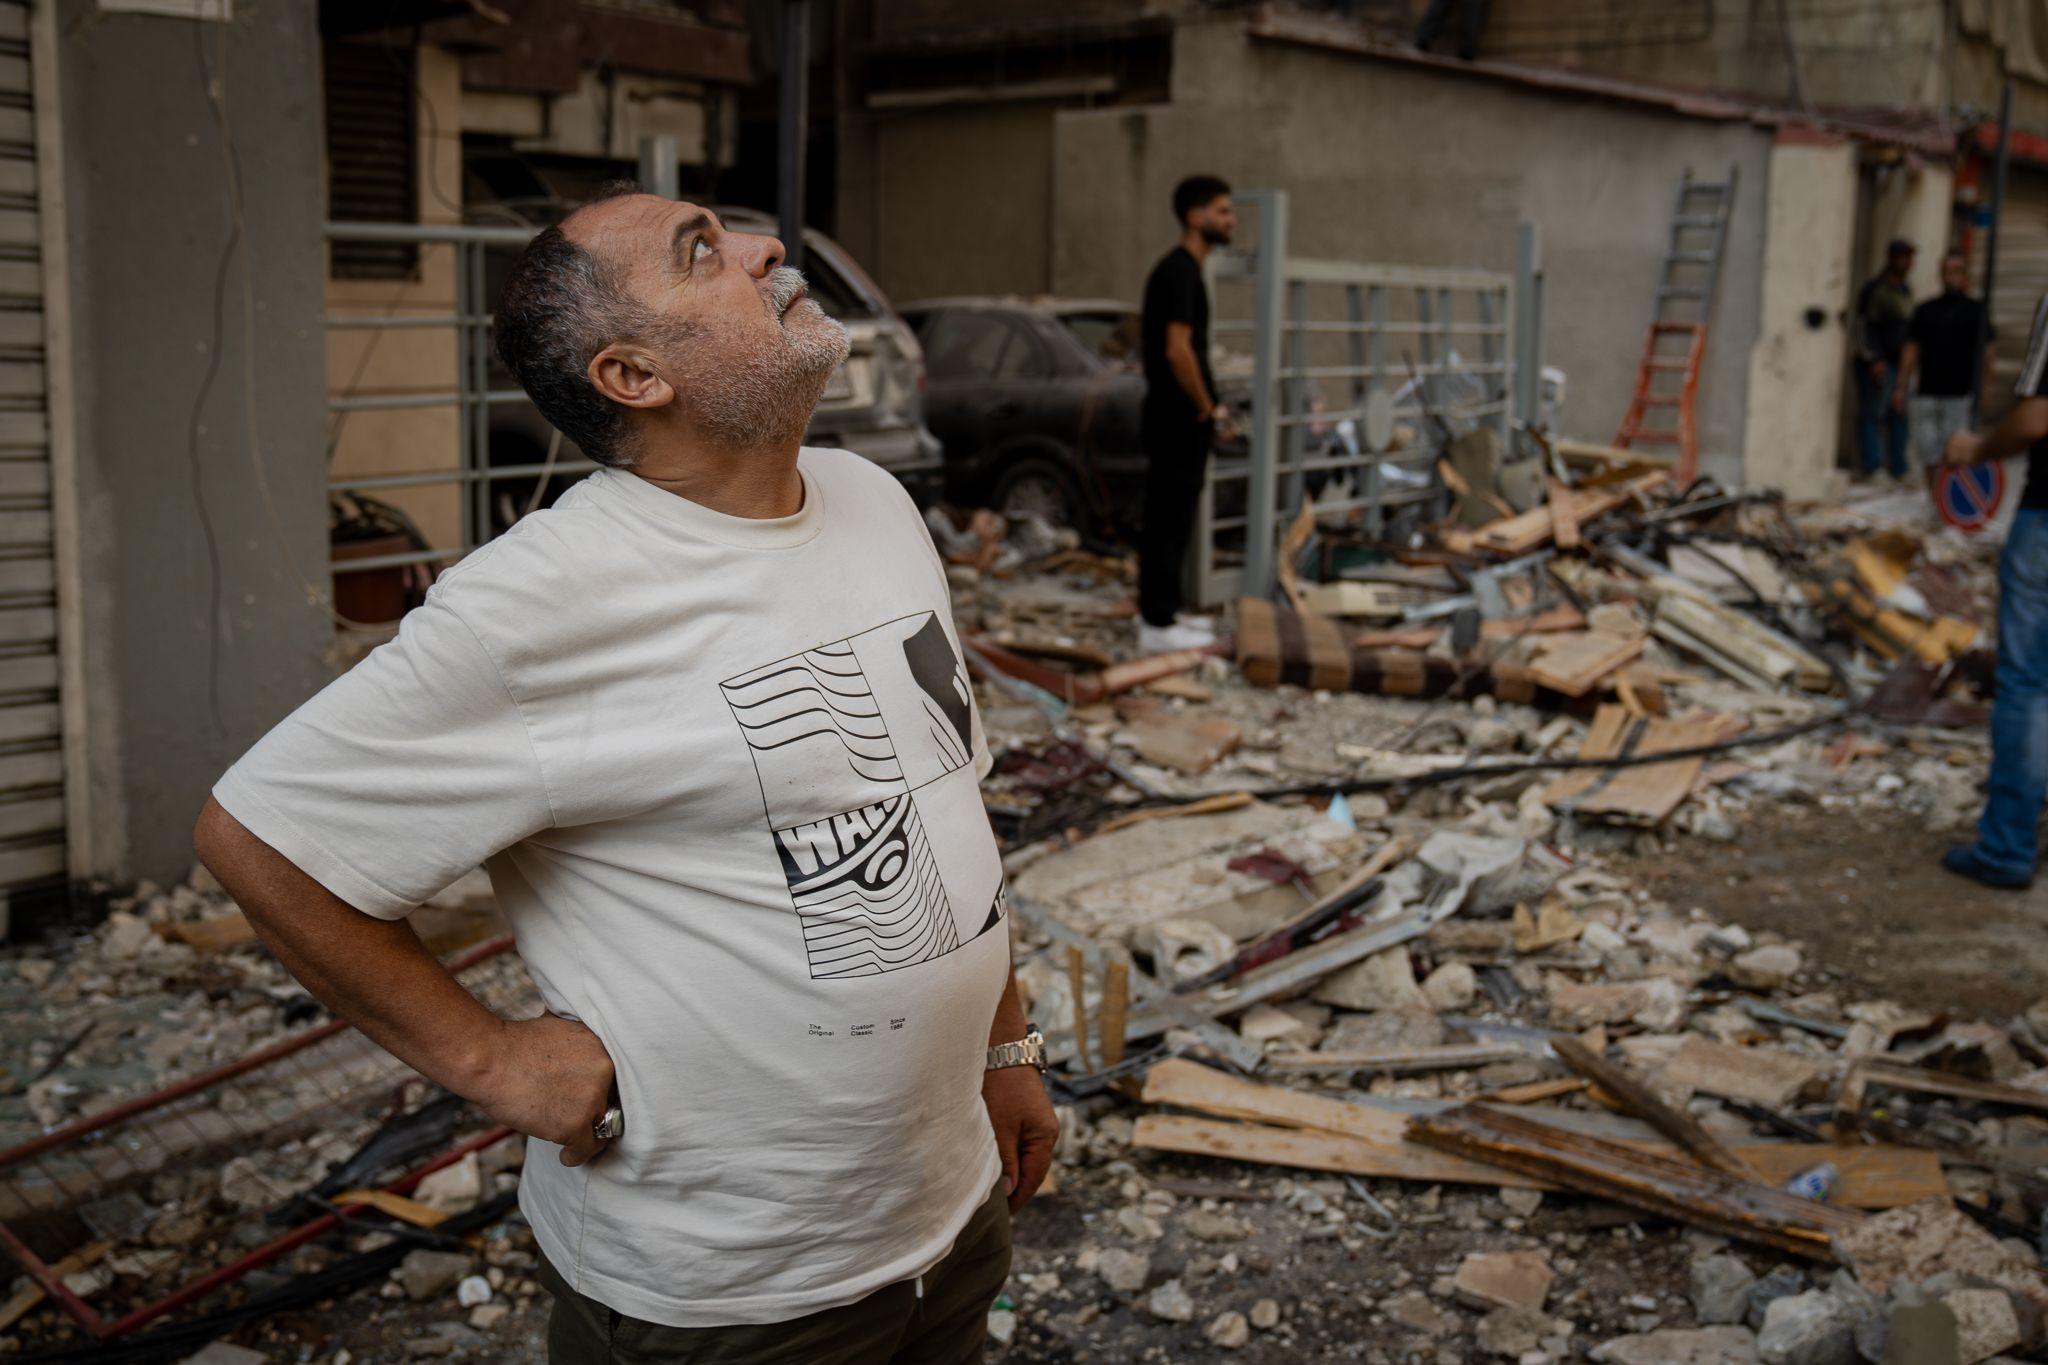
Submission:
M 387 241 L 420 248 L 446 248 L 455 254 L 455 311 L 451 313 L 379 313 L 379 315 L 328 315 L 330 332 L 340 329 L 449 329 L 455 334 L 455 387 L 422 393 L 340 393 L 328 395 L 328 413 L 352 411 L 395 411 L 424 407 L 455 409 L 455 469 L 430 469 L 387 475 L 356 475 L 330 479 L 330 493 L 369 493 L 375 489 L 418 489 L 434 485 L 457 485 L 467 491 L 463 497 L 461 544 L 403 551 L 395 555 L 371 555 L 360 559 L 334 559 L 334 573 L 362 573 L 369 569 L 395 569 L 403 565 L 424 565 L 461 559 L 477 544 L 489 540 L 492 528 L 492 487 L 508 479 L 537 479 L 545 475 L 575 475 L 596 469 L 590 460 L 571 458 L 557 463 L 492 465 L 492 424 L 489 413 L 504 403 L 526 403 L 520 389 L 492 389 L 492 301 L 485 289 L 483 258 L 492 248 L 518 250 L 526 246 L 532 227 L 467 227 L 440 223 L 328 223 L 328 241 Z

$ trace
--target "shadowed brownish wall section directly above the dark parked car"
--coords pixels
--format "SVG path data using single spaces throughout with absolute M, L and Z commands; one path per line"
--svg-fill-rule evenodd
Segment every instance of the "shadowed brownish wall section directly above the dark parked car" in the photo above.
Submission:
M 1053 284 L 1044 100 L 846 119 L 838 237 L 897 303 Z

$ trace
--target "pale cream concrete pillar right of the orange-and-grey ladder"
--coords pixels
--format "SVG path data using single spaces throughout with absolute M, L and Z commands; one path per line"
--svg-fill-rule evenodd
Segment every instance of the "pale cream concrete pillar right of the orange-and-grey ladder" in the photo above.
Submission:
M 1769 158 L 1761 317 L 1749 352 L 1745 487 L 1823 497 L 1835 483 L 1853 252 L 1855 145 L 1817 129 L 1782 129 Z

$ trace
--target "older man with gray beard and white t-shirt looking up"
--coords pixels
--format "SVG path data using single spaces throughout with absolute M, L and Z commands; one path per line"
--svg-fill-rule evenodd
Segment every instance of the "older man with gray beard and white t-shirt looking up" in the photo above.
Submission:
M 557 1365 L 979 1359 L 1057 1126 L 944 567 L 801 446 L 846 334 L 772 237 L 625 192 L 532 241 L 498 344 L 604 469 L 250 749 L 201 857 L 528 1136 Z M 403 923 L 479 862 L 537 1019 Z

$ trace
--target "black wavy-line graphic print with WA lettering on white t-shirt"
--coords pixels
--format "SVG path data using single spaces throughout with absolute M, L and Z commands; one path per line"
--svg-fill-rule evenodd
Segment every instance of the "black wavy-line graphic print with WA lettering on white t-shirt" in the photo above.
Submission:
M 811 976 L 930 962 L 1001 921 L 999 886 L 985 907 L 952 905 L 918 804 L 973 757 L 967 669 L 936 614 L 764 663 L 719 690 L 752 749 Z

